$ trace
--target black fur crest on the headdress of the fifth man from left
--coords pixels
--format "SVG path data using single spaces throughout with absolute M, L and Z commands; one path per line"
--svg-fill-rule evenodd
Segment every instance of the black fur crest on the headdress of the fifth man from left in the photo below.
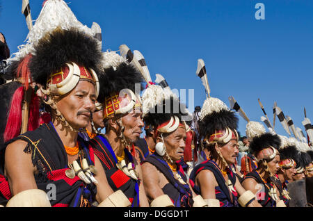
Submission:
M 250 142 L 250 150 L 252 154 L 260 152 L 262 149 L 267 148 L 269 146 L 274 147 L 275 149 L 279 149 L 281 145 L 280 137 L 271 133 L 264 133 L 261 136 L 257 136 L 252 139 Z

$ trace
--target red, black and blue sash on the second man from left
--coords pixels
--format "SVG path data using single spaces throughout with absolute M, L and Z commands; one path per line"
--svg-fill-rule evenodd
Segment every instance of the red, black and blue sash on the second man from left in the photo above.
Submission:
M 90 146 L 101 161 L 106 172 L 106 179 L 108 179 L 113 191 L 122 190 L 131 202 L 132 207 L 139 206 L 139 181 L 128 177 L 124 172 L 118 170 L 118 167 L 116 167 L 117 158 L 109 141 L 104 136 L 99 135 L 90 140 Z M 133 158 L 126 148 L 125 156 L 127 156 L 129 162 L 133 163 L 134 168 Z

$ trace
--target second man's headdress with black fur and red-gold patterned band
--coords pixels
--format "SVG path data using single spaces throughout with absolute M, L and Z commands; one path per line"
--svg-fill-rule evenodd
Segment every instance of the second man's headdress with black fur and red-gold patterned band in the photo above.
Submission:
M 141 108 L 140 95 L 136 95 L 136 85 L 139 93 L 143 89 L 141 73 L 115 51 L 106 51 L 103 56 L 105 75 L 99 77 L 103 86 L 98 101 L 102 102 L 104 120 Z

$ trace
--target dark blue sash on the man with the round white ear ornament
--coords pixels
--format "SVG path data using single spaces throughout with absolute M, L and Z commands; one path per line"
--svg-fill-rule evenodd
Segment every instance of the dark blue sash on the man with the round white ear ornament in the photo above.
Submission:
M 152 154 L 148 156 L 144 162 L 151 163 L 152 165 L 157 167 L 164 174 L 166 179 L 168 179 L 169 183 L 166 184 L 166 186 L 164 186 L 162 190 L 164 194 L 168 195 L 170 199 L 172 199 L 175 207 L 191 207 L 193 205 L 193 196 L 189 185 L 183 185 L 174 178 L 174 174 L 168 166 L 168 163 L 166 163 L 166 161 L 164 161 L 161 156 L 157 154 Z M 184 170 L 182 169 L 182 165 L 178 163 L 176 163 L 176 165 L 178 174 L 187 183 L 187 179 L 184 174 Z

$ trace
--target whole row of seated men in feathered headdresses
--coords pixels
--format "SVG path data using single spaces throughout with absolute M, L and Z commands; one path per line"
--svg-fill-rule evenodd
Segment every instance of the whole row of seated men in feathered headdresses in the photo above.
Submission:
M 191 116 L 165 79 L 152 82 L 140 51 L 103 52 L 73 17 L 63 1 L 45 1 L 28 44 L 1 58 L 2 206 L 312 206 L 310 145 L 259 122 L 240 137 L 202 60 L 207 99 Z

